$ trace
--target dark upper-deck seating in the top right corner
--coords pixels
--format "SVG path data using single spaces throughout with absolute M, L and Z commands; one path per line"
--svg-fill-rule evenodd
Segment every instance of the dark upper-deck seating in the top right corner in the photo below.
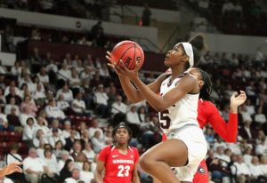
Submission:
M 188 0 L 201 17 L 226 34 L 266 36 L 267 13 L 261 0 Z

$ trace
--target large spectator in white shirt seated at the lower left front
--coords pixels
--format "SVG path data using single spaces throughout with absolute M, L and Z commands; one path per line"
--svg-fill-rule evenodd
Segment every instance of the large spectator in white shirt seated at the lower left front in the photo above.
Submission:
M 23 161 L 23 170 L 30 183 L 38 183 L 42 179 L 42 175 L 47 172 L 48 168 L 44 161 L 36 156 L 36 148 L 31 147 L 28 150 L 28 157 Z

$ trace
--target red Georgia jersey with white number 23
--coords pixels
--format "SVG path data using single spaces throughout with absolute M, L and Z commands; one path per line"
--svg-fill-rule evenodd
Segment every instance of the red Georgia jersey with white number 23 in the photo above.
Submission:
M 108 146 L 101 150 L 99 160 L 105 163 L 103 183 L 130 183 L 132 182 L 134 166 L 139 160 L 139 154 L 134 147 L 128 147 L 127 155 L 122 155 L 115 146 Z

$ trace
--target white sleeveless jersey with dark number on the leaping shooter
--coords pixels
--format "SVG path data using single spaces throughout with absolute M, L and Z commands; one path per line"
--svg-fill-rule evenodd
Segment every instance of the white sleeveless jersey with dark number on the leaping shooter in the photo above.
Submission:
M 164 96 L 166 92 L 172 90 L 181 77 L 175 78 L 172 84 L 168 84 L 171 76 L 166 78 L 160 86 L 160 96 Z M 161 129 L 167 133 L 174 129 L 181 128 L 187 124 L 198 125 L 198 94 L 186 94 L 182 99 L 177 101 L 173 106 L 159 112 L 159 123 Z

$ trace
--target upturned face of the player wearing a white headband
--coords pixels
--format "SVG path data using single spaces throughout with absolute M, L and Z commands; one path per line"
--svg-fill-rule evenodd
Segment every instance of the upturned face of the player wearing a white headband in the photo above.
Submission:
M 181 61 L 188 61 L 188 57 L 182 50 L 182 44 L 174 45 L 174 48 L 166 53 L 164 64 L 166 67 L 171 68 L 179 64 Z

